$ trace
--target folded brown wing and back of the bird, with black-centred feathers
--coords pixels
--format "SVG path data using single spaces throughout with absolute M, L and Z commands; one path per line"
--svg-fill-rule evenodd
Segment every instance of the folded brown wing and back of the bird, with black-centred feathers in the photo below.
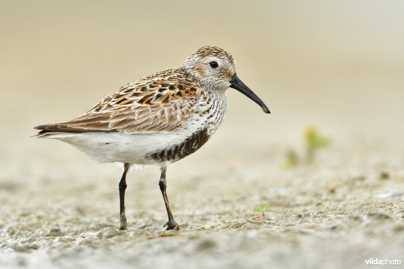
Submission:
M 200 90 L 184 72 L 164 70 L 129 83 L 82 116 L 35 127 L 47 132 L 162 132 L 188 120 Z

